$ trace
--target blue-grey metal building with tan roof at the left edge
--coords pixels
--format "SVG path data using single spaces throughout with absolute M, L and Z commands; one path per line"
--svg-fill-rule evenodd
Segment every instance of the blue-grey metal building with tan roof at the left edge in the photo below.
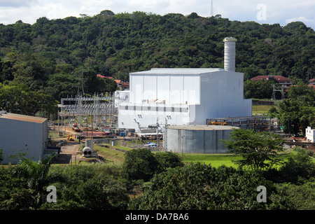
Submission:
M 48 143 L 48 120 L 0 111 L 0 148 L 2 164 L 16 164 L 19 158 L 10 156 L 26 153 L 26 158 L 41 160 Z

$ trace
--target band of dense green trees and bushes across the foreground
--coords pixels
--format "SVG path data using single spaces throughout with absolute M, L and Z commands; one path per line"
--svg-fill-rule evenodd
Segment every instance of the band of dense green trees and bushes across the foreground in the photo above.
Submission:
M 195 162 L 181 161 L 190 156 Z M 53 156 L 41 162 L 22 158 L 19 165 L 0 169 L 0 209 L 314 210 L 314 159 L 303 148 L 280 156 L 281 166 L 263 172 L 197 162 L 241 156 L 146 149 L 128 151 L 123 162 L 103 164 L 51 165 Z M 48 186 L 57 189 L 57 202 L 46 201 Z M 258 186 L 267 188 L 267 202 L 256 200 Z

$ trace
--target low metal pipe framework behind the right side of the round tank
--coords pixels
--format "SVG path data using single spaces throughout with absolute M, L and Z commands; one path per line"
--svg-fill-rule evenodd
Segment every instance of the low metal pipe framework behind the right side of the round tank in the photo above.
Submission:
M 234 118 L 210 118 L 207 125 L 227 125 L 240 127 L 241 129 L 251 129 L 256 132 L 276 132 L 279 131 L 277 122 L 267 116 L 248 116 Z

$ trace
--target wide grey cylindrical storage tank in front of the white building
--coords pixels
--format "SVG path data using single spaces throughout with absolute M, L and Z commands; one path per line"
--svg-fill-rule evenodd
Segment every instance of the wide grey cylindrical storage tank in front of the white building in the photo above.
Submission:
M 167 151 L 174 153 L 227 153 L 221 139 L 228 139 L 232 126 L 181 125 L 167 127 Z

